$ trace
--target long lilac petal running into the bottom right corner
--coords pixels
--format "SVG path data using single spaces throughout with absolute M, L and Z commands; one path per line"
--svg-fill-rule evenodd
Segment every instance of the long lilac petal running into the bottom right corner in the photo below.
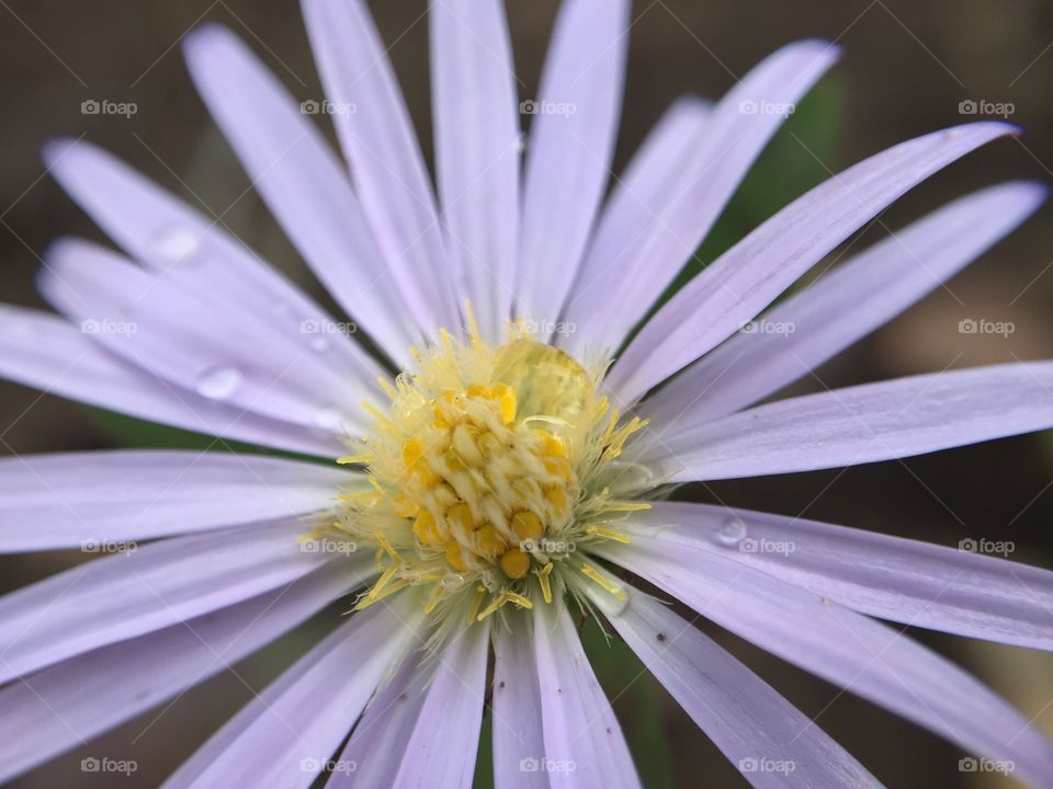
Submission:
M 950 661 L 861 614 L 715 552 L 634 533 L 605 558 L 761 649 L 1040 785 L 1053 745 Z

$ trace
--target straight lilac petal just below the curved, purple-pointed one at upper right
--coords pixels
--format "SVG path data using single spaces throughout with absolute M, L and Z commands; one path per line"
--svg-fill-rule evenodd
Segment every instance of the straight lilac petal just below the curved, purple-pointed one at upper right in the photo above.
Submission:
M 788 299 L 642 403 L 678 430 L 746 408 L 807 375 L 949 279 L 1046 198 L 1038 183 L 976 192 L 894 233 Z M 758 331 L 770 327 L 774 331 Z

